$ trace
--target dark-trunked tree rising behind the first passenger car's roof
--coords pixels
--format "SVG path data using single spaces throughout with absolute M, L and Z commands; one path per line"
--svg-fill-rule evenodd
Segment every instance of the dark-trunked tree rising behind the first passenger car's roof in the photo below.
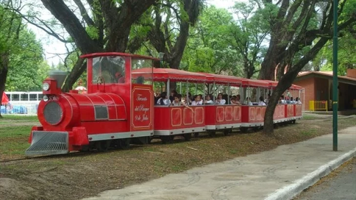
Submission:
M 195 25 L 203 0 L 161 0 L 153 7 L 148 39 L 170 68 L 178 69 L 189 37 L 189 27 Z

